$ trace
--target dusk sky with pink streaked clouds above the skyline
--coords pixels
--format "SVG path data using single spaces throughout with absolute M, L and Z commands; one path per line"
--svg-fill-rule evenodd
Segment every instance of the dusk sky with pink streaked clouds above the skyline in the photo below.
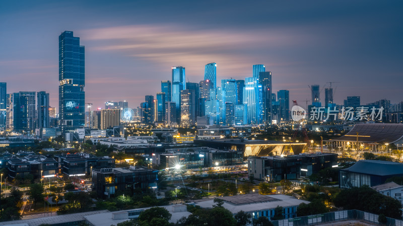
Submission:
M 265 64 L 273 90 L 305 107 L 308 85 L 333 83 L 334 102 L 403 100 L 402 1 L 2 1 L 0 82 L 50 93 L 58 110 L 58 36 L 85 46 L 86 102 L 137 107 L 171 67 L 199 82 L 252 76 Z M 320 93 L 324 101 L 324 89 Z

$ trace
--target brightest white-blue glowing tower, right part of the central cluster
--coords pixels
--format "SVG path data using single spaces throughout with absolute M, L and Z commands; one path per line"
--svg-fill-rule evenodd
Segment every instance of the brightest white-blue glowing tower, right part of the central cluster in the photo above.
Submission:
M 259 124 L 260 121 L 258 80 L 259 80 L 258 78 L 254 77 L 245 78 L 245 88 L 243 90 L 243 103 L 246 104 L 248 112 L 247 124 Z

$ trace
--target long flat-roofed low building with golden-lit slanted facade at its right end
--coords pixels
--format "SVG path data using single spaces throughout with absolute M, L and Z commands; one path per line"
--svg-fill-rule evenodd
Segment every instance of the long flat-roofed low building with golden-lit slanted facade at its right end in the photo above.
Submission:
M 267 156 L 281 155 L 285 147 L 290 146 L 295 155 L 302 153 L 306 143 L 281 142 L 281 141 L 263 141 L 263 140 L 242 140 L 242 139 L 209 139 L 194 140 L 194 144 L 203 147 L 210 147 L 220 150 L 242 151 L 243 156 Z

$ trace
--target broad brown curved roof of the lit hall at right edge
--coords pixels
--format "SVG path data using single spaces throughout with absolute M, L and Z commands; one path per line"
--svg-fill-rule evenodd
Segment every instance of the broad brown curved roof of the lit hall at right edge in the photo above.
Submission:
M 356 124 L 346 135 L 332 141 L 362 143 L 403 143 L 403 124 Z

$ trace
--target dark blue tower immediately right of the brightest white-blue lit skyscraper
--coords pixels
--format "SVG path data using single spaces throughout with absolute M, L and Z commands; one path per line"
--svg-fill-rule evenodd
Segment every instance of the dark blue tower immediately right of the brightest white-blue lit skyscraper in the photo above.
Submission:
M 271 123 L 272 115 L 272 72 L 259 72 L 259 83 L 262 85 L 263 122 Z

